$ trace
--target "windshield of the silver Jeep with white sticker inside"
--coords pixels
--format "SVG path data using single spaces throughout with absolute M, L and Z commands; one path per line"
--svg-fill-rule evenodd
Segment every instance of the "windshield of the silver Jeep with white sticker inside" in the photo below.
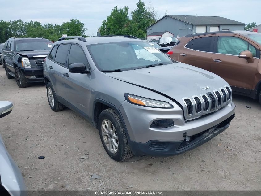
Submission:
M 144 41 L 92 44 L 87 45 L 87 48 L 100 71 L 127 71 L 151 67 L 153 64 L 173 63 L 165 54 Z

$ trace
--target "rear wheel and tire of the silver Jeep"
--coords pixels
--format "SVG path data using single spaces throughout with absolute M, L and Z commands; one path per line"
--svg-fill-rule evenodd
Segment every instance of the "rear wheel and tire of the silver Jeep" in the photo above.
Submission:
M 48 84 L 46 85 L 46 92 L 47 92 L 47 98 L 48 98 L 48 102 L 49 102 L 49 106 L 51 107 L 51 109 L 53 111 L 61 111 L 64 109 L 64 105 L 61 104 L 57 97 L 56 94 L 53 90 L 53 86 L 51 84 L 51 82 L 48 82 Z

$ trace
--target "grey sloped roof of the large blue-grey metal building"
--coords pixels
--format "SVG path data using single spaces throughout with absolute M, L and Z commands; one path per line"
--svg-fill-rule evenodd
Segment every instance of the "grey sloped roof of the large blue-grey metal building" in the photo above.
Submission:
M 189 24 L 194 24 L 194 25 L 195 24 L 199 24 L 199 25 L 208 25 L 208 24 L 210 24 L 210 25 L 212 25 L 212 24 L 214 24 L 214 25 L 220 25 L 220 24 L 246 25 L 245 23 L 223 18 L 221 16 L 165 15 L 161 19 L 163 19 L 166 16 L 169 16 L 169 17 L 177 19 L 177 20 L 181 20 L 181 21 L 189 23 Z M 157 23 L 161 19 L 157 20 L 155 23 Z M 155 24 L 155 23 L 153 23 L 153 24 Z M 150 25 L 150 26 L 152 26 L 152 25 Z M 149 27 L 147 27 L 147 28 L 149 28 Z

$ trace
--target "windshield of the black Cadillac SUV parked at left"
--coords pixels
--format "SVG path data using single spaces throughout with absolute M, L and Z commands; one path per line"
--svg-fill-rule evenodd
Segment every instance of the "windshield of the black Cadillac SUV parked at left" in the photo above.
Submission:
M 50 50 L 53 43 L 49 40 L 19 40 L 15 42 L 15 49 L 19 51 L 27 50 Z

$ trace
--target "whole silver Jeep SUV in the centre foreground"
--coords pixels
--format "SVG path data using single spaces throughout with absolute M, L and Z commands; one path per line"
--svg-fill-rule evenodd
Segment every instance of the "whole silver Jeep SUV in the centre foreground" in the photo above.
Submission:
M 60 38 L 46 58 L 44 81 L 51 109 L 84 116 L 116 161 L 183 153 L 234 118 L 225 80 L 128 35 Z

